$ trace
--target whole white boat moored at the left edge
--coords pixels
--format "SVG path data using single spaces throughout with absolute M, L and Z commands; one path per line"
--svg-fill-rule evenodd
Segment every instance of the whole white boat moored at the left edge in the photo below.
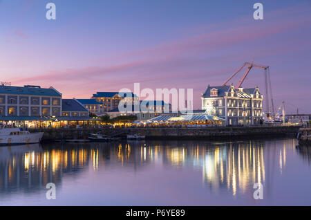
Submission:
M 0 125 L 0 145 L 25 145 L 40 143 L 44 132 L 30 133 L 18 128 Z

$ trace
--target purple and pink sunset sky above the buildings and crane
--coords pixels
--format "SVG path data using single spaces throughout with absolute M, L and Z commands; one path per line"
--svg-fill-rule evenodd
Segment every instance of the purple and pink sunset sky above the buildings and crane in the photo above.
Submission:
M 57 19 L 46 19 L 46 3 Z M 263 3 L 264 19 L 253 5 Z M 275 106 L 311 113 L 311 1 L 0 0 L 0 81 L 97 91 L 194 89 L 194 109 L 244 62 L 270 66 Z M 238 82 L 242 73 L 233 82 Z M 253 69 L 243 87 L 258 85 Z

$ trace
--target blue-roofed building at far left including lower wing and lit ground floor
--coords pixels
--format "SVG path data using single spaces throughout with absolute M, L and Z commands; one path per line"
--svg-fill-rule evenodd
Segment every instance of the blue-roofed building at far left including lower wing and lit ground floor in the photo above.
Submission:
M 62 99 L 53 87 L 0 86 L 0 122 L 17 127 L 95 125 L 88 109 L 75 99 Z

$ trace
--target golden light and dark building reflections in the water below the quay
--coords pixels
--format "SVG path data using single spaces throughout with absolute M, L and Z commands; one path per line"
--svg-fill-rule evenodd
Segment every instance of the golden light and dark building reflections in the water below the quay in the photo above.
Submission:
M 122 143 L 48 144 L 0 148 L 0 193 L 35 192 L 46 183 L 62 186 L 62 178 L 81 172 L 129 169 L 151 165 L 202 172 L 211 192 L 225 189 L 232 196 L 252 190 L 254 183 L 272 185 L 282 174 L 288 154 L 299 153 L 310 165 L 308 147 L 295 147 L 293 139 L 206 141 L 128 141 Z M 279 163 L 279 164 L 278 164 Z

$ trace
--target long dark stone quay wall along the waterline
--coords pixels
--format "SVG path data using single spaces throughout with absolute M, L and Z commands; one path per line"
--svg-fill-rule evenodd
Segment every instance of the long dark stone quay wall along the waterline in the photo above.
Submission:
M 134 127 L 134 128 L 88 128 L 88 129 L 31 129 L 30 132 L 44 131 L 43 140 L 85 139 L 88 134 L 126 136 L 140 134 L 148 139 L 221 139 L 268 136 L 296 136 L 299 126 L 279 127 Z

